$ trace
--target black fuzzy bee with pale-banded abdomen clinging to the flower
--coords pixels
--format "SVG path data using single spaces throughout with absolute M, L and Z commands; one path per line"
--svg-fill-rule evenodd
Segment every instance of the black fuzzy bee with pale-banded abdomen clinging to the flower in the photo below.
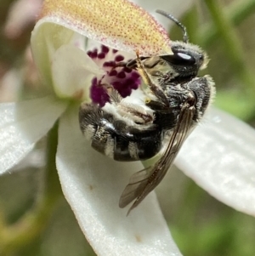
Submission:
M 153 191 L 167 174 L 174 158 L 195 125 L 200 122 L 214 95 L 214 82 L 198 71 L 207 66 L 207 54 L 188 42 L 186 28 L 164 11 L 183 31 L 183 42 L 172 42 L 173 54 L 139 56 L 119 65 L 139 71 L 146 88 L 135 100 L 122 99 L 107 87 L 111 102 L 104 107 L 82 104 L 79 122 L 92 147 L 116 161 L 159 160 L 130 178 L 119 207 L 133 202 L 127 214 Z M 138 92 L 136 92 L 138 94 Z

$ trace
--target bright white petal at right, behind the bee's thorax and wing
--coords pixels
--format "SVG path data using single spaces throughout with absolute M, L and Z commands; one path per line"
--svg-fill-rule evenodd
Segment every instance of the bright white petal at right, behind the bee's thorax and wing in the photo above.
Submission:
M 176 164 L 219 201 L 255 215 L 255 130 L 244 122 L 211 110 Z

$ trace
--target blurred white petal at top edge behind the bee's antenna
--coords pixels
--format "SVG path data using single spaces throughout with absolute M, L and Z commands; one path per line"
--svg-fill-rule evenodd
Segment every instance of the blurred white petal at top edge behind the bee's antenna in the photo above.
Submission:
M 139 4 L 143 9 L 147 10 L 156 20 L 165 27 L 166 30 L 170 26 L 174 26 L 174 22 L 167 20 L 166 17 L 161 14 L 156 14 L 156 9 L 161 9 L 166 11 L 169 14 L 173 14 L 174 17 L 178 18 L 188 9 L 194 0 L 178 0 L 178 1 L 169 1 L 169 0 L 157 0 L 157 1 L 148 1 L 148 0 L 130 0 L 133 3 Z M 173 39 L 173 38 L 172 38 Z M 174 39 L 173 39 L 174 40 Z

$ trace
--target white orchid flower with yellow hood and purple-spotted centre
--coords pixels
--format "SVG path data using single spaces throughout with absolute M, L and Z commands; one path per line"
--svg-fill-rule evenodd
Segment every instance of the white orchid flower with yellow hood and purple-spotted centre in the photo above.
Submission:
M 104 46 L 95 50 L 99 43 Z M 111 74 L 112 61 L 132 58 L 135 50 L 171 54 L 170 46 L 164 28 L 127 0 L 45 1 L 31 48 L 48 95 L 0 105 L 0 174 L 59 122 L 56 165 L 62 190 L 99 255 L 181 255 L 154 192 L 128 217 L 127 209 L 118 208 L 122 189 L 141 163 L 101 156 L 83 138 L 78 123 L 82 101 L 105 103 L 95 86 L 102 79 L 125 85 L 119 92 L 126 96 L 138 88 L 135 71 L 126 74 L 129 82 Z M 176 164 L 218 200 L 254 214 L 254 135 L 246 124 L 212 110 L 187 139 Z

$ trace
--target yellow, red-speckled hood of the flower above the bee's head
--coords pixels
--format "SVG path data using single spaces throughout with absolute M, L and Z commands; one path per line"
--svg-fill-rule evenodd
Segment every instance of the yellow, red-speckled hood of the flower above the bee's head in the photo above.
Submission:
M 172 54 L 167 31 L 127 0 L 45 0 L 40 18 L 106 46 L 139 54 Z M 48 19 L 49 18 L 49 19 Z

